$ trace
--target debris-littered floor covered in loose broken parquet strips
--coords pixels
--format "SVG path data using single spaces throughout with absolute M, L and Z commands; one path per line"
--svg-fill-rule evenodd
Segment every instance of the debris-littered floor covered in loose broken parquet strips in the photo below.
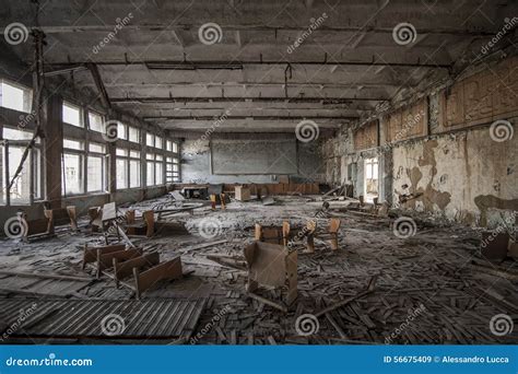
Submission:
M 293 309 L 284 314 L 247 297 L 246 272 L 221 266 L 205 256 L 243 256 L 245 244 L 254 239 L 255 223 L 281 225 L 283 220 L 289 219 L 292 226 L 302 225 L 314 218 L 321 207 L 321 202 L 308 201 L 311 200 L 309 197 L 279 196 L 275 199 L 278 203 L 268 207 L 259 201 L 233 201 L 224 211 L 211 211 L 204 207 L 197 209 L 193 215 L 178 214 L 169 220 L 184 222 L 189 235 L 134 241 L 134 244 L 143 246 L 144 253 L 160 252 L 162 259 L 180 254 L 184 272 L 190 272 L 181 280 L 161 283 L 146 292 L 144 301 L 207 299 L 193 334 L 176 343 L 518 342 L 516 331 L 497 336 L 490 329 L 494 316 L 518 313 L 516 278 L 511 281 L 490 274 L 471 262 L 480 259 L 476 231 L 417 218 L 415 235 L 399 238 L 392 231 L 393 219 L 330 210 L 326 214 L 341 217 L 340 248 L 331 252 L 326 243 L 317 241 L 314 254 L 303 254 L 304 247 L 298 249 L 298 300 Z M 172 200 L 164 197 L 143 201 L 133 208 L 170 203 Z M 215 235 L 209 238 L 202 237 L 198 230 L 208 220 L 215 227 Z M 325 227 L 326 222 L 327 218 L 319 219 L 319 227 Z M 90 234 L 87 230 L 79 234 L 62 231 L 55 238 L 32 244 L 3 241 L 0 245 L 0 270 L 87 277 L 92 273 L 81 270 L 82 249 L 79 245 L 101 241 L 99 234 Z M 221 241 L 226 242 L 196 248 L 203 243 Z M 516 274 L 511 261 L 487 266 L 506 269 L 508 276 Z M 379 277 L 374 293 L 320 316 L 318 323 L 311 326 L 313 334 L 305 336 L 297 332 L 301 315 L 315 314 L 355 295 L 376 274 Z M 5 279 L 5 276 L 0 277 Z M 52 293 L 52 282 L 37 294 L 22 294 L 2 285 L 0 289 L 4 289 L 0 291 L 2 299 L 47 300 L 64 296 L 63 292 Z M 131 292 L 123 288 L 116 290 L 110 280 L 102 278 L 86 287 L 73 289 L 67 297 L 129 300 Z M 24 338 L 15 341 L 23 342 Z M 116 339 L 107 340 L 110 341 Z M 87 340 L 71 339 L 67 342 Z

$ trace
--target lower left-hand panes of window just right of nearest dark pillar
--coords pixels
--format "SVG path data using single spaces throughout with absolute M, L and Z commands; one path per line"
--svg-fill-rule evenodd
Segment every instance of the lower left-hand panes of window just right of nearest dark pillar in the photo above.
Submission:
M 63 139 L 62 185 L 64 196 L 84 192 L 84 143 L 79 140 Z

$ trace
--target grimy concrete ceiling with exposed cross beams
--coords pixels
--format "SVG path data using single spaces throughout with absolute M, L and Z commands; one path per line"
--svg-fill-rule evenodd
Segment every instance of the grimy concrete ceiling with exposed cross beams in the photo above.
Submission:
M 459 71 L 517 13 L 485 0 L 1 2 L 0 26 L 47 34 L 47 70 L 79 67 L 62 77 L 96 90 L 81 70 L 94 62 L 115 107 L 196 131 L 224 113 L 217 131 L 290 131 L 304 118 L 338 128 Z M 219 43 L 200 39 L 207 23 Z M 392 35 L 401 23 L 415 28 L 410 44 Z M 31 43 L 9 48 L 31 62 Z

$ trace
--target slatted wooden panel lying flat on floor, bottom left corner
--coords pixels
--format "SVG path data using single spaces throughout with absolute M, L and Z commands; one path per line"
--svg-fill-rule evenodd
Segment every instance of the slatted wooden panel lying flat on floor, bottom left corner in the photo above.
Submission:
M 168 341 L 190 338 L 204 304 L 204 299 L 145 301 L 0 299 L 0 311 L 7 326 L 12 326 L 19 320 L 20 311 L 32 311 L 9 339 L 22 338 L 30 342 L 31 339 L 45 337 Z

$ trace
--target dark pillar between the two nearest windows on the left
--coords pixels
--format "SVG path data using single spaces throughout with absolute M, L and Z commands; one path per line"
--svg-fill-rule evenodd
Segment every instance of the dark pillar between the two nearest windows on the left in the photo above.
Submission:
M 42 128 L 43 140 L 45 199 L 52 209 L 61 208 L 61 154 L 63 152 L 62 98 L 51 95 L 47 98 Z

